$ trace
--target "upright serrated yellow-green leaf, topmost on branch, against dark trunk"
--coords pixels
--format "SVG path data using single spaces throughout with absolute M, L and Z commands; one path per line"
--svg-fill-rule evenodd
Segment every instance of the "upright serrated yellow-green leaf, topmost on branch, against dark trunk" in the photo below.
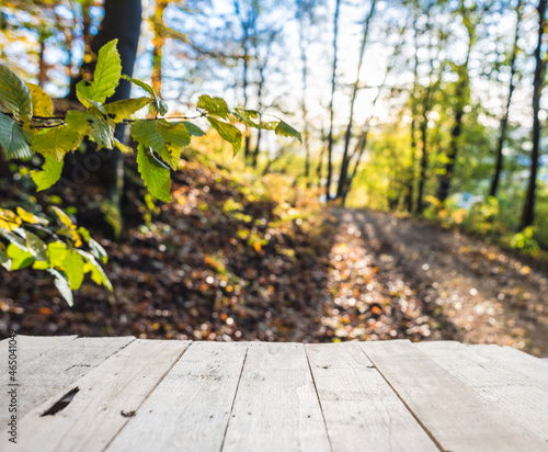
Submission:
M 118 39 L 106 43 L 98 54 L 98 63 L 93 72 L 93 80 L 81 80 L 76 87 L 78 100 L 87 108 L 91 106 L 89 101 L 104 103 L 114 94 L 122 77 L 122 63 L 116 49 Z

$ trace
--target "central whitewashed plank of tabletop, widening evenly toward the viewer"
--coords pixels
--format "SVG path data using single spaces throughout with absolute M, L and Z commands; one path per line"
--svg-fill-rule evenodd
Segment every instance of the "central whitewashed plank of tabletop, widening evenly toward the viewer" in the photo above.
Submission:
M 329 451 L 305 347 L 251 342 L 224 451 Z

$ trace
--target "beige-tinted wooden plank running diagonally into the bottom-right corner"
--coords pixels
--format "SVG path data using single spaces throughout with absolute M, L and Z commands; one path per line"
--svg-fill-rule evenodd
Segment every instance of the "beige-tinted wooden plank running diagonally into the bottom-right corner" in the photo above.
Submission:
M 539 436 L 439 366 L 409 341 L 359 344 L 414 416 L 448 451 L 544 451 L 548 431 Z M 522 400 L 522 403 L 526 403 Z

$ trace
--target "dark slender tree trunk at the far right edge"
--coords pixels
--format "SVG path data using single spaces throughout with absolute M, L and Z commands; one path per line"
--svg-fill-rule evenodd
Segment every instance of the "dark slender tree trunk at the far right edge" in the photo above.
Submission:
M 543 46 L 543 37 L 545 34 L 545 14 L 546 5 L 548 0 L 539 0 L 537 11 L 538 11 L 538 42 L 535 49 L 535 76 L 533 80 L 533 151 L 530 155 L 530 176 L 529 183 L 527 187 L 527 194 L 525 196 L 525 204 L 523 207 L 522 225 L 521 228 L 524 229 L 527 226 L 532 226 L 535 221 L 535 197 L 537 188 L 537 172 L 539 166 L 539 155 L 540 155 L 540 118 L 538 117 L 538 112 L 540 111 L 540 94 L 543 90 L 543 81 L 545 76 L 545 61 L 540 56 L 540 49 Z

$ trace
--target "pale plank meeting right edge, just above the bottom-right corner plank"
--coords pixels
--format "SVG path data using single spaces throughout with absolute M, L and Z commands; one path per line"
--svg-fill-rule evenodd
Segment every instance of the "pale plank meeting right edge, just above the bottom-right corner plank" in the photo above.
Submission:
M 480 400 L 512 413 L 515 422 L 540 437 L 546 436 L 548 441 L 547 386 L 537 386 L 536 381 L 526 380 L 458 342 L 423 342 L 415 347 L 472 388 Z

